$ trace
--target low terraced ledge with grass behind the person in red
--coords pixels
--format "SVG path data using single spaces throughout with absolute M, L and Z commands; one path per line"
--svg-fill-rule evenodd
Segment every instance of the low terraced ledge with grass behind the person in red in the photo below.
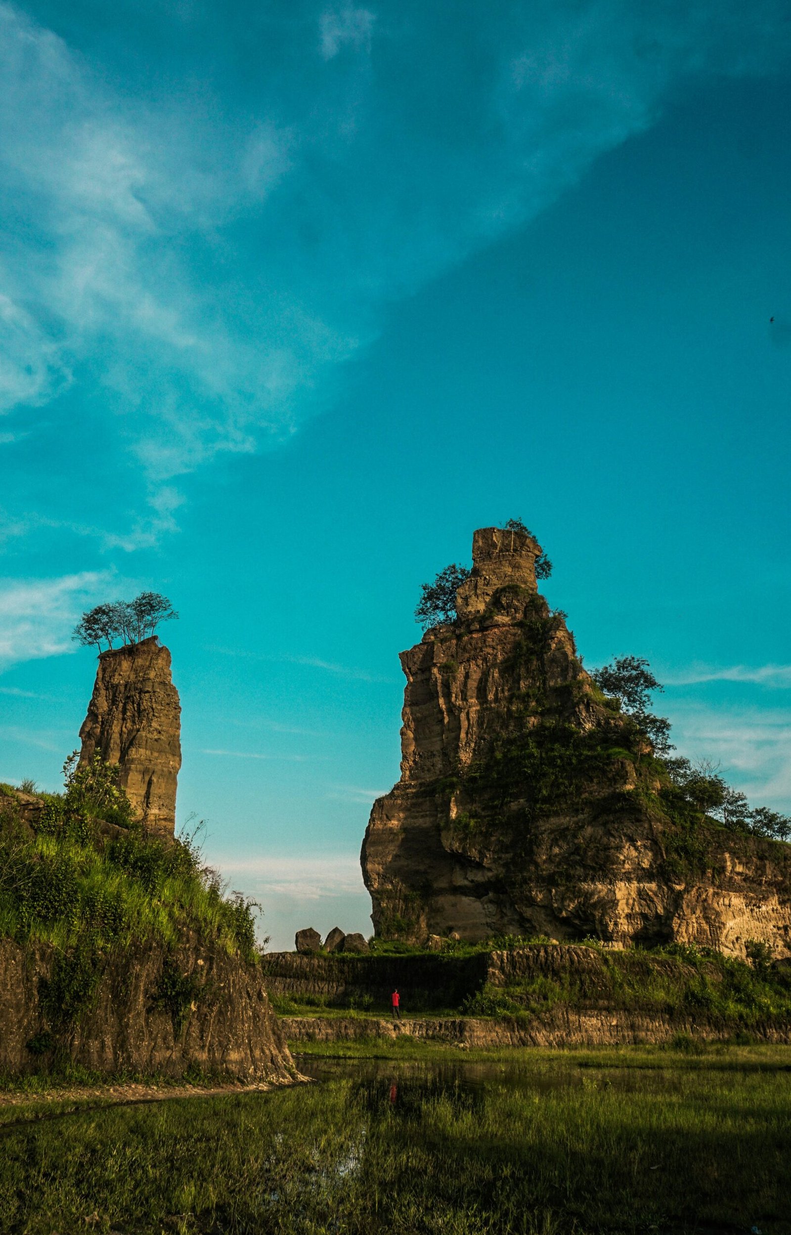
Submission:
M 674 946 L 544 945 L 473 956 L 263 957 L 288 1041 L 461 1046 L 791 1042 L 791 966 Z M 398 987 L 403 1020 L 388 1015 Z

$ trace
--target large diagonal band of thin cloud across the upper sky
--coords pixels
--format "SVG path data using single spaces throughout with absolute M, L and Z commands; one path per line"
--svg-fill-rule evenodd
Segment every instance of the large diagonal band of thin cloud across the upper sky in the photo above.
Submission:
M 388 304 L 535 216 L 679 84 L 771 72 L 791 37 L 781 0 L 284 12 L 243 26 L 252 95 L 214 84 L 213 43 L 190 65 L 205 96 L 163 101 L 0 4 L 0 406 L 35 424 L 78 387 L 119 414 L 115 464 L 151 515 L 115 547 L 177 527 L 173 478 L 286 441 Z

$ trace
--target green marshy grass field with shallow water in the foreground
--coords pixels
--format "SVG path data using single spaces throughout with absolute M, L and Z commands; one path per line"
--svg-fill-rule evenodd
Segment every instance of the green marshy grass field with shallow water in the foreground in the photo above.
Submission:
M 789 1049 L 353 1045 L 321 1084 L 1 1129 L 0 1230 L 791 1233 Z

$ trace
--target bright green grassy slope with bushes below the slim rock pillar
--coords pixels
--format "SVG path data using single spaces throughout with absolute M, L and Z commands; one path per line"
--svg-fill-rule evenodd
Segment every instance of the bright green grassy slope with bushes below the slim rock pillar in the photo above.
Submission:
M 0 937 L 104 951 L 194 930 L 253 958 L 253 905 L 225 897 L 192 840 L 146 835 L 110 766 L 67 762 L 66 792 L 43 795 L 32 829 L 11 787 L 0 794 Z

